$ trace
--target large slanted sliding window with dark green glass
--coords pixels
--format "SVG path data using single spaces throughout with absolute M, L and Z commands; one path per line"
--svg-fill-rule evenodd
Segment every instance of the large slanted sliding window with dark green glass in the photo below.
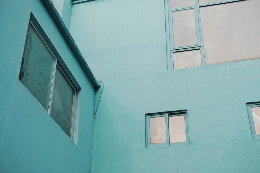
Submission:
M 40 25 L 34 23 L 30 20 L 28 25 L 19 80 L 74 141 L 80 87 L 69 70 L 64 70 L 68 68 L 48 37 L 42 37 L 45 33 L 36 29 Z

